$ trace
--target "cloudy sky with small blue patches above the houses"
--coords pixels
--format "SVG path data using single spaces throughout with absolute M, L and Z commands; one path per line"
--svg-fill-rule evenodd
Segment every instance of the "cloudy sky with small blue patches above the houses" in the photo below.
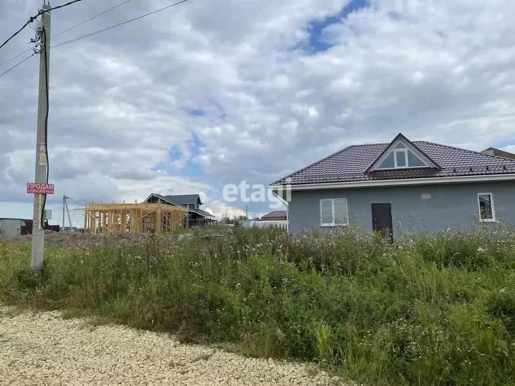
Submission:
M 55 10 L 52 35 L 122 2 Z M 131 0 L 52 44 L 173 3 Z M 2 5 L 3 41 L 41 1 Z M 268 203 L 224 202 L 224 185 L 268 186 L 399 132 L 513 151 L 513 14 L 512 0 L 189 0 L 56 47 L 48 205 L 57 219 L 63 194 L 110 202 L 201 192 L 216 215 L 246 205 L 262 214 Z M 33 34 L 0 49 L 0 63 L 30 48 Z M 0 77 L 0 217 L 32 217 L 38 67 L 32 57 Z

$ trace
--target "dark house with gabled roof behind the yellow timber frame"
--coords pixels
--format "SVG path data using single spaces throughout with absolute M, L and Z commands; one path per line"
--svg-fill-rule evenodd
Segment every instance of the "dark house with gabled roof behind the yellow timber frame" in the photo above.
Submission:
M 206 226 L 215 222 L 215 216 L 200 209 L 202 201 L 200 195 L 168 195 L 152 193 L 144 202 L 163 203 L 188 208 L 188 227 Z M 186 223 L 184 224 L 186 226 Z

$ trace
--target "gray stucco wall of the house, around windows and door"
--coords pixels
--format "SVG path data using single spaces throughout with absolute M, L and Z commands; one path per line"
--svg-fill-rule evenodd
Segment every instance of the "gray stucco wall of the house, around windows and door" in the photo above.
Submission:
M 506 223 L 515 223 L 515 182 L 467 183 L 370 187 L 328 190 L 294 190 L 288 205 L 289 229 L 327 231 L 320 227 L 320 200 L 346 198 L 349 222 L 361 223 L 372 230 L 373 203 L 391 203 L 394 235 L 404 231 L 436 231 L 448 225 L 467 228 L 478 219 L 478 193 L 493 193 L 495 215 Z M 431 199 L 421 199 L 430 194 Z

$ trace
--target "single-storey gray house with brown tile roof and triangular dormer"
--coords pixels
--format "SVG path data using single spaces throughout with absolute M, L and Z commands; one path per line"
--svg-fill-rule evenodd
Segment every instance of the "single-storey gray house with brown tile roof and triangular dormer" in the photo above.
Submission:
M 365 230 L 436 231 L 471 221 L 515 223 L 515 160 L 399 134 L 353 145 L 271 184 L 289 197 L 291 233 L 361 223 Z

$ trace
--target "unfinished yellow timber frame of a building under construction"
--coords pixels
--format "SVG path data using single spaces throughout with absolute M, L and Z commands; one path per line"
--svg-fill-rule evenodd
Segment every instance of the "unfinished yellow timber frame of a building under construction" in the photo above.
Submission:
M 86 202 L 84 233 L 170 232 L 188 227 L 188 209 L 164 204 Z

